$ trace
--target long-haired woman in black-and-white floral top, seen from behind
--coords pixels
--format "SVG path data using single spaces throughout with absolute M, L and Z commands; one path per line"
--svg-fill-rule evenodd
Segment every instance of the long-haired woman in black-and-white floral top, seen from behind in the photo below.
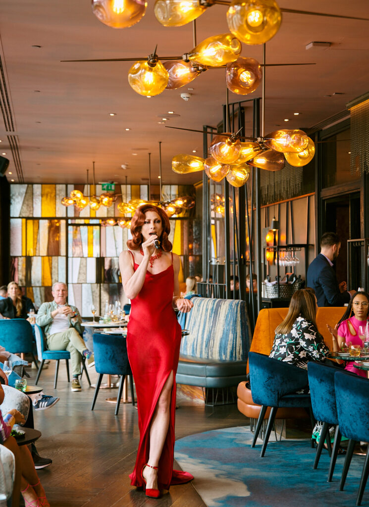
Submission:
M 329 348 L 316 327 L 317 308 L 313 289 L 303 288 L 292 295 L 287 316 L 275 330 L 269 357 L 305 369 L 309 361 L 325 361 Z M 337 340 L 333 349 L 339 350 Z

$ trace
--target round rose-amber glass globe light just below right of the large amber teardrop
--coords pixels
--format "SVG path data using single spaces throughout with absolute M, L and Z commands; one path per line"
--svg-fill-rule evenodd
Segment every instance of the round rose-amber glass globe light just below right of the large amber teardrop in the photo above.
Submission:
M 262 78 L 262 67 L 253 58 L 240 57 L 226 65 L 226 84 L 231 92 L 239 95 L 255 91 Z

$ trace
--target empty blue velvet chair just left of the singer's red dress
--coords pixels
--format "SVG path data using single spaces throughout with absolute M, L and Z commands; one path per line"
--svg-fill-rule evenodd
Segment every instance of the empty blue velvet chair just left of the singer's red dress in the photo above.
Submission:
M 132 405 L 134 406 L 133 377 L 128 360 L 126 337 L 94 333 L 93 344 L 95 370 L 99 374 L 99 377 L 96 382 L 91 410 L 94 409 L 103 375 L 120 375 L 121 379 L 119 382 L 117 405 L 115 410 L 115 415 L 118 415 L 123 392 L 123 383 L 126 375 L 129 375 Z

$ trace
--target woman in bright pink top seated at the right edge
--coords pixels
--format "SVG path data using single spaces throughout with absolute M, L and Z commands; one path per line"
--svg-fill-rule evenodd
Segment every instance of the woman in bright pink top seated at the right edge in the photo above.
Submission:
M 361 338 L 359 338 L 359 327 L 362 326 L 365 329 L 368 313 L 369 295 L 366 292 L 356 292 L 338 323 L 337 334 L 340 348 L 344 342 L 351 342 L 352 345 L 360 345 L 362 347 L 363 343 Z M 366 372 L 355 368 L 353 361 L 347 361 L 345 370 L 366 378 Z

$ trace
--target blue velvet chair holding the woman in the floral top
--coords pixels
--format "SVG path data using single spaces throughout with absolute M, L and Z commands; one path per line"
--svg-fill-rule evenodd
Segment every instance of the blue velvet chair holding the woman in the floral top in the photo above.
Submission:
M 248 365 L 252 401 L 262 405 L 251 447 L 255 446 L 267 408 L 271 407 L 261 452 L 263 457 L 278 408 L 306 408 L 312 418 L 310 394 L 296 393 L 307 387 L 308 372 L 257 352 L 248 353 Z

